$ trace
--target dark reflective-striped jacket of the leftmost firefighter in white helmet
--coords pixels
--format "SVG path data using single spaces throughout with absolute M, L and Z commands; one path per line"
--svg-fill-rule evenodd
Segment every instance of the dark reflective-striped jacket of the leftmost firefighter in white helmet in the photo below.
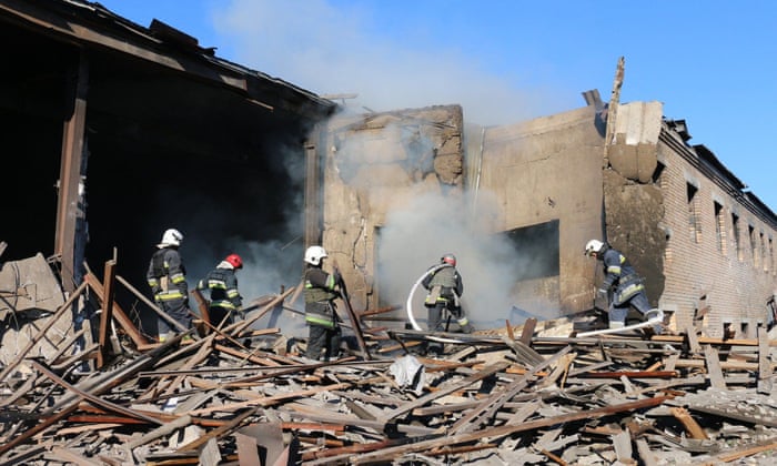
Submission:
M 186 271 L 175 247 L 160 247 L 151 256 L 145 280 L 157 302 L 186 300 Z

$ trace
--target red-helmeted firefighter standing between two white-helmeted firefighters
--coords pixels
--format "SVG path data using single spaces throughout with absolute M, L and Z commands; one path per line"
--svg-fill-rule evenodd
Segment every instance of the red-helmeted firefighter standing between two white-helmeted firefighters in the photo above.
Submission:
M 241 313 L 243 298 L 238 291 L 235 276 L 241 269 L 243 260 L 238 254 L 230 254 L 196 284 L 198 290 L 210 292 L 208 314 L 210 324 L 216 328 L 231 324 L 233 317 Z

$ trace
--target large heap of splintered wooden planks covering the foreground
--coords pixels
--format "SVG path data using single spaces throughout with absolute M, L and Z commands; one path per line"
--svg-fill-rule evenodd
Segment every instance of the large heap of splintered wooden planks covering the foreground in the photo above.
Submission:
M 578 338 L 584 320 L 529 320 L 430 334 L 371 328 L 355 312 L 359 344 L 312 362 L 252 325 L 295 290 L 191 343 L 159 344 L 111 302 L 107 265 L 103 283 L 90 274 L 3 359 L 1 464 L 713 465 L 777 449 L 765 331 Z M 78 348 L 52 330 L 85 290 L 101 303 L 100 337 Z M 435 338 L 444 353 L 427 358 L 418 348 Z

